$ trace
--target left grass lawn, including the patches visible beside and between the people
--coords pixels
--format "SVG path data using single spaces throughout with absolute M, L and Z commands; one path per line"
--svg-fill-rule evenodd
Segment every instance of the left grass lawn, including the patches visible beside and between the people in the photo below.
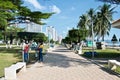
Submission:
M 43 53 L 46 53 L 48 46 L 44 46 Z M 0 47 L 0 77 L 4 76 L 4 68 L 14 63 L 22 61 L 22 52 L 20 48 L 6 49 Z M 29 52 L 30 62 L 35 60 L 35 51 Z

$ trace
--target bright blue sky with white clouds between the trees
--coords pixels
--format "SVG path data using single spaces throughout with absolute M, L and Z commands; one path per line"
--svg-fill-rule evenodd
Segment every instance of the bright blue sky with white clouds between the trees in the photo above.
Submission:
M 23 0 L 24 5 L 32 11 L 55 12 L 49 19 L 43 20 L 47 25 L 43 26 L 43 31 L 46 27 L 53 26 L 58 35 L 65 37 L 68 30 L 77 28 L 79 17 L 87 13 L 90 8 L 98 9 L 104 3 L 96 0 Z M 114 7 L 116 5 L 112 5 Z M 120 19 L 120 5 L 115 8 L 117 13 L 113 14 L 113 20 Z M 120 38 L 120 30 L 111 28 L 110 35 L 105 36 L 105 39 L 112 38 L 113 34 Z

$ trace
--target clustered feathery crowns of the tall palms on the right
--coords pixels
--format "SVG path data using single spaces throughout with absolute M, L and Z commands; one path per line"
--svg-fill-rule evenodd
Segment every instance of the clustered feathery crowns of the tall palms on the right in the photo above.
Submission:
M 114 9 L 115 7 L 111 7 L 109 4 L 99 6 L 97 10 L 90 8 L 87 14 L 80 16 L 77 27 L 80 30 L 89 30 L 90 37 L 94 34 L 98 38 L 97 40 L 102 38 L 104 41 L 104 36 L 109 35 L 111 29 Z

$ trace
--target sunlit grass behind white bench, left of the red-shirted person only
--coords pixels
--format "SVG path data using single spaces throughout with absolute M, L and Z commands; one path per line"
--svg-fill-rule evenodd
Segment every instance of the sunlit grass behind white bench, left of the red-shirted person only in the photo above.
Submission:
M 0 77 L 4 76 L 4 68 L 21 61 L 20 49 L 0 48 Z

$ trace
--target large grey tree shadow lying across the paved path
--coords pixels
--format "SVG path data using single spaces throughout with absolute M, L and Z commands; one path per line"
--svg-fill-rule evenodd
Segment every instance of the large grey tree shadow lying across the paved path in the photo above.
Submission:
M 84 67 L 88 67 L 91 65 L 91 62 L 88 60 L 84 60 L 84 59 L 77 59 L 77 58 L 72 58 L 69 57 L 65 54 L 58 54 L 57 52 L 67 52 L 66 54 L 70 54 L 69 50 L 65 49 L 58 49 L 55 50 L 54 53 L 48 53 L 47 55 L 44 56 L 44 64 L 50 67 L 63 67 L 63 68 L 68 68 L 68 67 L 74 67 L 74 66 L 84 66 Z M 73 55 L 73 54 L 71 54 Z

